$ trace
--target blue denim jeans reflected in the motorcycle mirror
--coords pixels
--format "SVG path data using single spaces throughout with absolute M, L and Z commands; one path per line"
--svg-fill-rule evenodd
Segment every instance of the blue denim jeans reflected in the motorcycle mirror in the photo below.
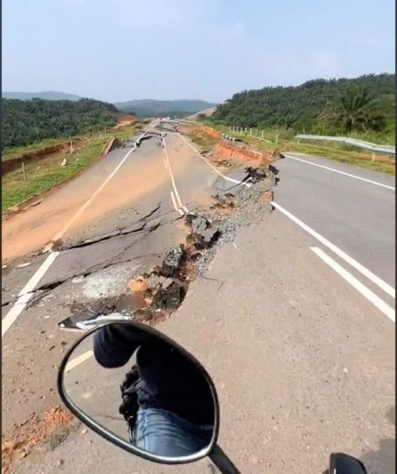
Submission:
M 194 425 L 170 411 L 140 407 L 131 441 L 152 454 L 177 458 L 207 447 L 213 429 L 212 425 Z

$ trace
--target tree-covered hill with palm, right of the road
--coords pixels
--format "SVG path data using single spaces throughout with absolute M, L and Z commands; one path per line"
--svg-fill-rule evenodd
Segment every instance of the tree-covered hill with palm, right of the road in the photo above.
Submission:
M 212 121 L 231 126 L 279 126 L 295 132 L 349 133 L 395 128 L 394 74 L 316 79 L 297 87 L 264 87 L 236 93 Z

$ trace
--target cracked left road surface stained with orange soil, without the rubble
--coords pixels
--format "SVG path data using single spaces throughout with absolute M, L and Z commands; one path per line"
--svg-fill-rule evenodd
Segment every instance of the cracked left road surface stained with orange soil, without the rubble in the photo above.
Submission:
M 150 130 L 167 133 L 154 126 Z M 2 282 L 3 431 L 58 402 L 56 367 L 76 335 L 60 331 L 56 324 L 87 307 L 133 307 L 128 281 L 161 265 L 166 253 L 185 241 L 187 210 L 212 203 L 212 185 L 219 174 L 178 134 L 169 132 L 166 148 L 158 146 L 159 135 L 142 141 L 77 219 L 73 216 L 81 205 L 132 146 L 113 150 L 40 205 L 3 223 L 8 256 Z M 174 205 L 177 199 L 180 203 Z M 56 258 L 48 260 L 54 253 L 41 249 L 70 221 Z M 48 261 L 52 263 L 46 267 Z M 29 301 L 19 297 L 27 286 Z

